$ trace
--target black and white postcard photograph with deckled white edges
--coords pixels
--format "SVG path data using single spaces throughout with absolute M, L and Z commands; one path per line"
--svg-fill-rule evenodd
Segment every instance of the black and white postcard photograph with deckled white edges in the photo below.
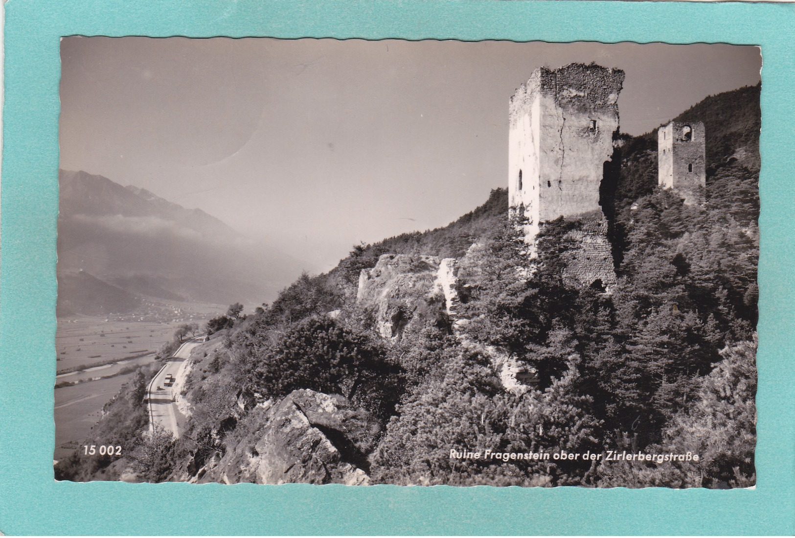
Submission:
M 763 53 L 64 37 L 56 480 L 754 487 Z

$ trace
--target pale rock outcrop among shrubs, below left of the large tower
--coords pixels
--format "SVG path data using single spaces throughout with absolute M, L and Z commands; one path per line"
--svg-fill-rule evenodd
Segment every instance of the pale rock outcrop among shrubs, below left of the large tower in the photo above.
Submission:
M 446 319 L 439 265 L 436 256 L 384 254 L 362 271 L 356 300 L 382 337 L 398 339 L 405 330 Z

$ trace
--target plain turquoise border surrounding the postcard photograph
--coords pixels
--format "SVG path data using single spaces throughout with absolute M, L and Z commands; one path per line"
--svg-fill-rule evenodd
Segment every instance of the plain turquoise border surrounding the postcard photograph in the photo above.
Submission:
M 0 259 L 6 534 L 795 533 L 793 6 L 682 2 L 10 0 Z M 59 37 L 498 38 L 762 45 L 754 490 L 130 485 L 52 479 Z

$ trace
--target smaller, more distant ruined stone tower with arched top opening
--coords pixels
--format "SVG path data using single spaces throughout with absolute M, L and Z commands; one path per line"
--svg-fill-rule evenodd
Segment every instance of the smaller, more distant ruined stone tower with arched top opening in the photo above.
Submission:
M 704 203 L 707 185 L 704 123 L 671 122 L 657 130 L 659 179 L 664 189 L 673 189 L 684 203 Z

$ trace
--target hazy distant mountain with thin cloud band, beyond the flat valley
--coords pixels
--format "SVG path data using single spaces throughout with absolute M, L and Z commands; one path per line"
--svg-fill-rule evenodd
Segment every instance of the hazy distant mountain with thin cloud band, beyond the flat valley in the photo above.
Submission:
M 83 171 L 60 170 L 58 179 L 61 312 L 99 314 L 85 298 L 94 300 L 91 290 L 99 289 L 115 297 L 111 288 L 134 298 L 253 306 L 272 300 L 301 272 L 296 260 L 200 209 Z M 125 298 L 109 311 L 130 305 Z

